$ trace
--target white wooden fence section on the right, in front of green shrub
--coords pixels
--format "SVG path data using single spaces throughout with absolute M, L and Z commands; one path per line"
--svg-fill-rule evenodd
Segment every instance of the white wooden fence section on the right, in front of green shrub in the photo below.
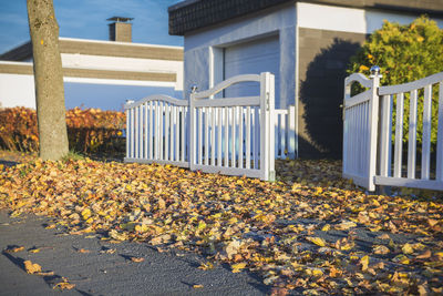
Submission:
M 374 69 L 371 80 L 354 73 L 344 81 L 343 177 L 352 178 L 356 184 L 369 191 L 374 191 L 375 185 L 443 191 L 443 72 L 400 85 L 379 86 L 379 81 L 378 69 Z M 369 90 L 351 96 L 351 85 L 354 82 Z M 439 88 L 439 98 L 434 98 L 439 101 L 439 110 L 437 124 L 433 126 L 431 109 L 434 88 Z M 404 145 L 406 96 L 410 105 L 406 114 L 409 140 L 408 145 Z M 419 101 L 423 105 L 421 131 L 418 129 Z M 433 131 L 437 135 L 434 159 L 431 153 Z M 418 132 L 422 133 L 420 166 L 416 165 Z M 404 154 L 408 155 L 405 164 Z

